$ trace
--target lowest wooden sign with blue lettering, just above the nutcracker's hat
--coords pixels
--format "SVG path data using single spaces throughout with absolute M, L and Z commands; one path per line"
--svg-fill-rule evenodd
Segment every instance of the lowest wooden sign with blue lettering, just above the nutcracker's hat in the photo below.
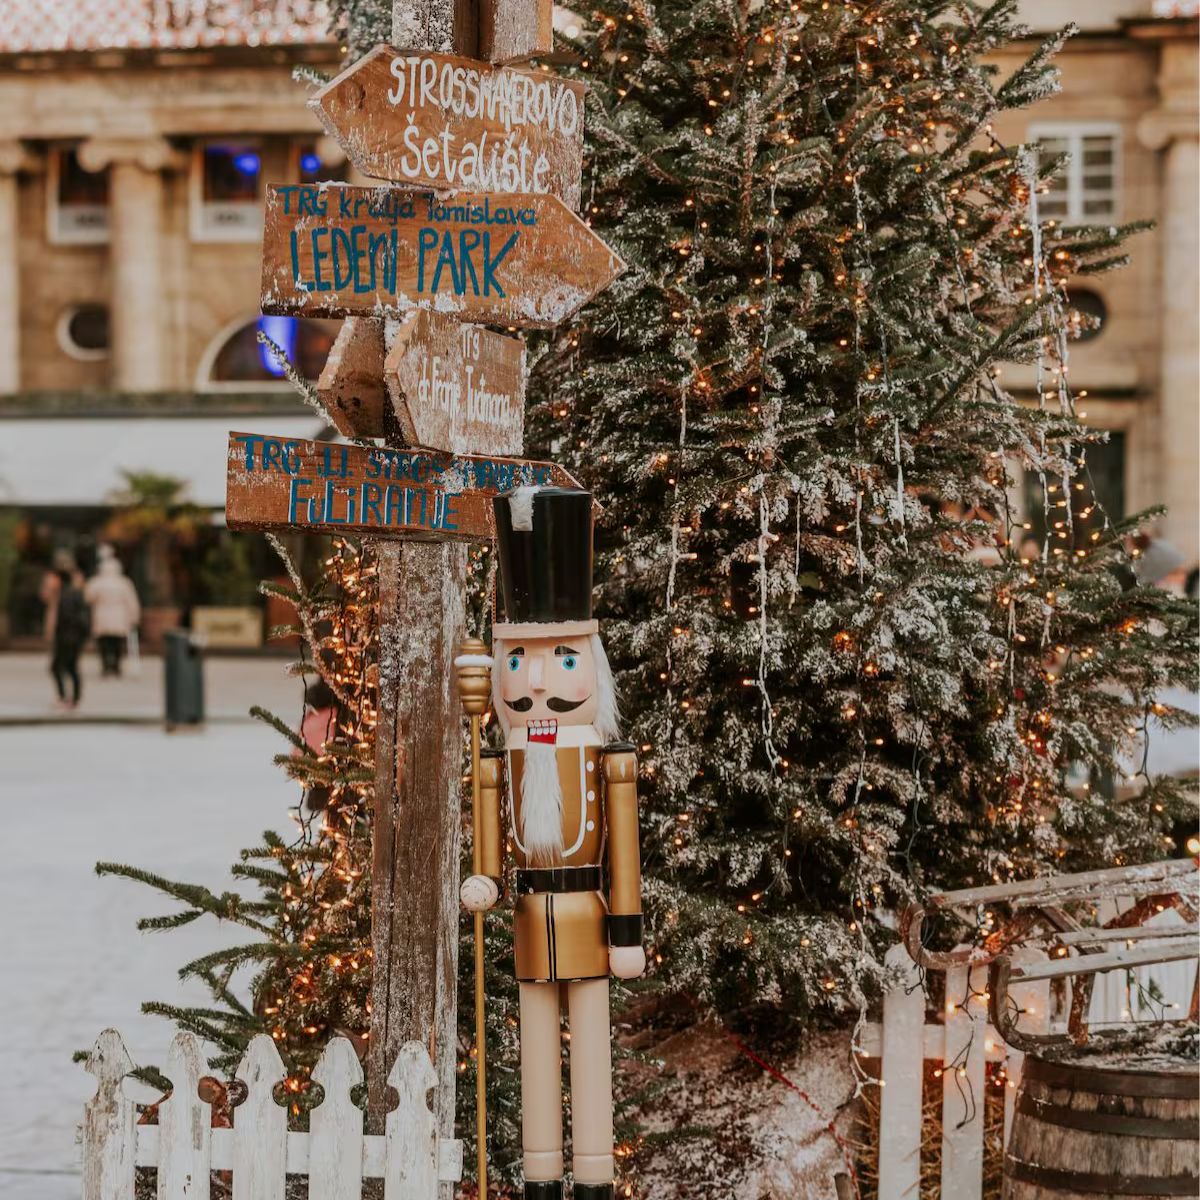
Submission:
M 494 496 L 546 484 L 580 486 L 548 462 L 230 433 L 226 520 L 232 529 L 487 541 Z

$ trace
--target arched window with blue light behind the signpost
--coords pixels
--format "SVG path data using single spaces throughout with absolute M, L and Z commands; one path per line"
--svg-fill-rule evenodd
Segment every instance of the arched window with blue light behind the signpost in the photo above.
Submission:
M 258 341 L 265 334 L 288 356 L 305 379 L 316 379 L 325 366 L 338 323 L 299 317 L 256 317 L 239 322 L 216 337 L 200 361 L 197 384 L 202 391 L 254 390 L 287 385 L 283 366 L 270 347 Z

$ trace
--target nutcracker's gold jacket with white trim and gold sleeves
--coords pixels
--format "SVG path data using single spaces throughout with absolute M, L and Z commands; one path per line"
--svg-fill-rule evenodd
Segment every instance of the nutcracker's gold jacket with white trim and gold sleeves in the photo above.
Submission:
M 600 892 L 518 890 L 514 928 L 516 977 L 522 983 L 602 978 L 608 974 L 610 916 L 630 918 L 641 944 L 637 757 L 632 746 L 605 746 L 592 726 L 558 727 L 556 758 L 563 791 L 563 856 L 557 863 L 533 862 L 521 841 L 524 757 L 522 726 L 510 730 L 503 757 L 484 758 L 480 764 L 476 836 L 481 842 L 482 874 L 498 882 L 503 880 L 506 840 L 518 870 L 602 868 L 607 848 L 608 872 L 607 888 Z M 506 810 L 506 822 L 502 820 L 502 808 Z M 612 923 L 612 928 L 628 930 L 630 920 Z

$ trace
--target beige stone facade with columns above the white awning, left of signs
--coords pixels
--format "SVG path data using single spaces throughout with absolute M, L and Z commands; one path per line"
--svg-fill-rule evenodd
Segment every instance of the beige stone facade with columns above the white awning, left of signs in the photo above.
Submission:
M 263 182 L 340 172 L 292 78 L 337 68 L 324 6 L 4 10 L 0 394 L 238 382 L 212 360 L 257 314 Z

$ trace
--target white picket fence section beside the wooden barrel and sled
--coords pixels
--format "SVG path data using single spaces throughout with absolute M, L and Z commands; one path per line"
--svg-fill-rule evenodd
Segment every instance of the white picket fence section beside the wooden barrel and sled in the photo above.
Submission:
M 1019 950 L 1018 964 L 1045 960 L 1038 949 Z M 944 1022 L 925 1024 L 920 972 L 902 946 L 887 958 L 899 978 L 883 1000 L 883 1021 L 868 1025 L 860 1052 L 880 1060 L 878 1200 L 918 1200 L 920 1194 L 922 1090 L 925 1062 L 942 1069 L 942 1195 L 978 1200 L 983 1193 L 985 1064 L 1003 1062 L 1004 1140 L 1013 1120 L 1016 1085 L 1025 1055 L 1004 1044 L 988 1024 L 988 967 L 952 967 L 946 972 Z M 1027 1032 L 1046 1028 L 1048 980 L 1016 984 L 1012 997 Z

